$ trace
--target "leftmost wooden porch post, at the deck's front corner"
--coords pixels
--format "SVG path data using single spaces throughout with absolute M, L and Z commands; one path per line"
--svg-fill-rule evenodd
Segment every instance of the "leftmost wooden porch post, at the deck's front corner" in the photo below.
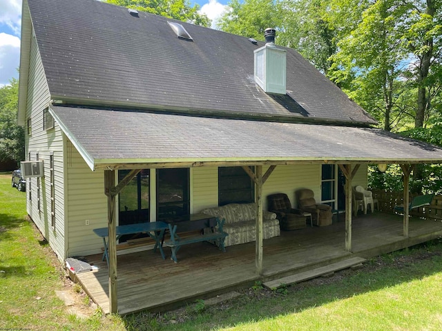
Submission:
M 118 312 L 117 303 L 117 230 L 115 224 L 115 170 L 104 171 L 104 193 L 108 197 L 108 262 L 109 262 L 109 309 Z

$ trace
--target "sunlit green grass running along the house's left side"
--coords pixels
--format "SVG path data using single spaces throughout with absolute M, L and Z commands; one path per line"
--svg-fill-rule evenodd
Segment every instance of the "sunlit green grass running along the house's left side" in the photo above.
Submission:
M 26 192 L 0 174 L 0 330 L 125 330 L 99 311 L 79 319 L 57 298 L 61 263 L 26 215 Z

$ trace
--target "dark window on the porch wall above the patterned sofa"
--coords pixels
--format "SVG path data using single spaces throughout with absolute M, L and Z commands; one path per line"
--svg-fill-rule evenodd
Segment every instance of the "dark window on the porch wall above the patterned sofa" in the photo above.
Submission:
M 254 201 L 255 185 L 242 167 L 218 168 L 218 205 Z

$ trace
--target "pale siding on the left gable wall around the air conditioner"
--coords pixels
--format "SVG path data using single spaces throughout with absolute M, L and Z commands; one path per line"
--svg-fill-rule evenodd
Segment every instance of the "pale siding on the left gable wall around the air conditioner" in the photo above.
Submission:
M 28 94 L 26 100 L 26 119 L 32 121 L 32 134 L 28 136 L 25 128 L 26 158 L 44 161 L 44 177 L 39 179 L 40 194 L 37 196 L 37 179 L 28 179 L 27 210 L 32 221 L 44 235 L 59 259 L 64 259 L 64 156 L 63 134 L 55 123 L 55 128 L 43 130 L 43 113 L 50 101 L 50 94 L 41 57 L 35 37 L 30 39 L 30 66 Z M 51 225 L 50 201 L 50 153 L 54 155 L 55 184 L 55 227 Z M 30 193 L 29 193 L 30 191 Z M 31 200 L 28 199 L 31 194 Z M 38 200 L 40 199 L 40 208 Z

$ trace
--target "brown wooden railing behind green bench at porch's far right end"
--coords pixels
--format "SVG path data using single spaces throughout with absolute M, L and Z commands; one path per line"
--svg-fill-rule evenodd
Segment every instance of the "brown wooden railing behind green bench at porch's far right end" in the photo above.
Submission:
M 373 199 L 378 201 L 379 210 L 394 213 L 394 206 L 403 203 L 403 192 L 390 192 L 383 190 L 371 190 Z M 410 194 L 410 201 L 419 194 Z M 442 220 L 442 196 L 435 195 L 430 205 L 414 208 L 410 215 Z

